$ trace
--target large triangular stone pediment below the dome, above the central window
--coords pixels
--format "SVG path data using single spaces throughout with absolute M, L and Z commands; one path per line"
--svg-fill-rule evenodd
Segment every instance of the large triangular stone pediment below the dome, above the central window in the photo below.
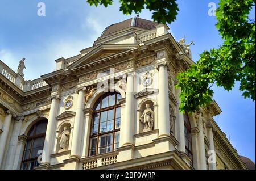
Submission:
M 90 62 L 95 62 L 97 60 L 102 60 L 107 57 L 114 56 L 115 54 L 126 52 L 127 50 L 136 49 L 138 44 L 104 44 L 99 45 L 89 53 L 82 56 L 79 60 L 69 65 L 67 68 L 74 69 L 79 68 L 82 65 L 89 64 Z

